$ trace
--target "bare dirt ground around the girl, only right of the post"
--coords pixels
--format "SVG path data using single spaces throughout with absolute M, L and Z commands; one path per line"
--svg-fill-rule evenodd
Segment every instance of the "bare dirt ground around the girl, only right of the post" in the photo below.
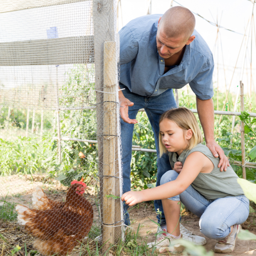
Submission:
M 154 234 L 157 231 L 157 225 L 153 222 L 157 222 L 156 213 L 153 204 L 143 203 L 130 211 L 131 227 L 137 231 L 140 224 L 140 235 L 147 242 L 154 241 Z M 244 224 L 242 224 L 243 229 L 250 230 L 250 232 L 256 234 L 256 214 L 250 213 L 248 219 Z M 153 220 L 153 221 L 151 221 Z M 255 222 L 254 222 L 255 221 Z M 183 224 L 186 229 L 191 231 L 193 234 L 198 236 L 203 236 L 207 240 L 207 244 L 204 245 L 207 251 L 213 250 L 216 240 L 209 239 L 204 236 L 199 231 L 199 218 L 193 213 L 184 213 L 181 218 L 181 224 Z M 255 224 L 254 224 L 255 223 Z M 163 254 L 161 254 L 163 255 Z M 168 254 L 169 255 L 169 254 Z M 242 241 L 240 239 L 236 240 L 236 249 L 232 253 L 215 253 L 214 256 L 221 255 L 232 255 L 232 256 L 242 256 L 242 255 L 256 255 L 256 241 Z

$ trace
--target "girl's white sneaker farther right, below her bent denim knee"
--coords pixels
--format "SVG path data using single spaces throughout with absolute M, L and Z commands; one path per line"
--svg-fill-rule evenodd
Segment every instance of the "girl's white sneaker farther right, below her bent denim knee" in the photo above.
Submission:
M 241 229 L 241 225 L 235 225 L 232 233 L 225 237 L 223 240 L 220 240 L 215 244 L 214 252 L 215 253 L 231 253 L 235 250 L 237 234 Z

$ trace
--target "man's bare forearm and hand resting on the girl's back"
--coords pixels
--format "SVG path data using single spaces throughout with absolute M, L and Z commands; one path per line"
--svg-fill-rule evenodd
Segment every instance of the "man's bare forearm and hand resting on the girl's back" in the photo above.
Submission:
M 215 142 L 214 139 L 214 106 L 212 99 L 201 100 L 196 97 L 196 105 L 198 116 L 204 130 L 204 138 L 206 145 L 212 152 L 214 157 L 219 157 L 220 161 L 218 167 L 221 172 L 227 171 L 227 166 L 230 166 L 227 157 L 222 148 Z

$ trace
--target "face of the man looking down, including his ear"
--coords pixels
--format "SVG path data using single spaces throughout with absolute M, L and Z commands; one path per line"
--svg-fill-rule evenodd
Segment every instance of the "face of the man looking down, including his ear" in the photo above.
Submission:
M 172 55 L 179 54 L 183 47 L 190 44 L 194 39 L 194 35 L 192 35 L 187 41 L 184 40 L 183 35 L 177 38 L 168 38 L 163 29 L 159 26 L 158 22 L 157 51 L 162 58 L 170 58 Z

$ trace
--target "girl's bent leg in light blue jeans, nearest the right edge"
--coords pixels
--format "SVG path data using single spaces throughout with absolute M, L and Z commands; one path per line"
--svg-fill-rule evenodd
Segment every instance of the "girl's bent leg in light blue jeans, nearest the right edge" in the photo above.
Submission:
M 244 195 L 227 196 L 213 201 L 200 218 L 201 232 L 216 240 L 230 235 L 233 225 L 242 224 L 249 215 L 249 200 Z

